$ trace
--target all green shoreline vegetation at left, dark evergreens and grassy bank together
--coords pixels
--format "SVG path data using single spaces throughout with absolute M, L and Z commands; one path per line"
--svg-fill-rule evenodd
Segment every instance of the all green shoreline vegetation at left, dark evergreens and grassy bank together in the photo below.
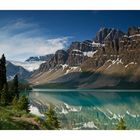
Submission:
M 4 54 L 0 59 L 0 129 L 1 130 L 38 130 L 59 129 L 60 123 L 52 108 L 46 113 L 46 118 L 38 118 L 30 114 L 27 95 L 20 91 L 29 90 L 28 84 L 18 82 L 18 75 L 13 81 L 6 79 L 6 59 Z

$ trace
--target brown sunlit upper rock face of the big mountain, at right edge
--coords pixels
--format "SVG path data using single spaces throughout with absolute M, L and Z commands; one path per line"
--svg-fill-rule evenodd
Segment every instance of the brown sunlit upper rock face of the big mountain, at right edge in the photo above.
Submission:
M 98 54 L 86 60 L 82 66 L 84 69 L 97 69 L 107 60 L 116 61 L 119 59 L 123 65 L 140 64 L 140 34 L 139 28 L 131 27 L 128 29 L 129 36 L 123 35 L 111 41 L 106 41 L 102 49 L 98 49 Z

